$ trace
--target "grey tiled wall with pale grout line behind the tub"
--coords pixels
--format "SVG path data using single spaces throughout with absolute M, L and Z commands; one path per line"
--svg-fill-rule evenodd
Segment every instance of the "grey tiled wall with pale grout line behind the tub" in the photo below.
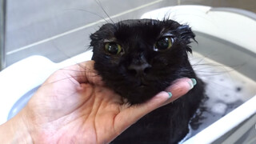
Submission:
M 110 22 L 109 17 L 118 22 L 177 5 L 234 7 L 256 12 L 255 0 L 1 0 L 0 5 L 2 67 L 30 55 L 61 62 L 85 52 L 90 34 Z

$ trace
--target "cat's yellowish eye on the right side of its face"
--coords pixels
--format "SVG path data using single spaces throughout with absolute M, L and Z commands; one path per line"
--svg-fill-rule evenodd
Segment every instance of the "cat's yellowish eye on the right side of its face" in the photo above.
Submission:
M 161 51 L 170 49 L 173 45 L 174 38 L 171 37 L 163 37 L 158 39 L 158 42 L 154 44 L 154 51 Z

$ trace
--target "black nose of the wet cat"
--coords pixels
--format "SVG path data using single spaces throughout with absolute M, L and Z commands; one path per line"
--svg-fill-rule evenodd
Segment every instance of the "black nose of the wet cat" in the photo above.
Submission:
M 128 67 L 128 70 L 130 70 L 131 74 L 137 75 L 137 74 L 147 74 L 150 70 L 150 64 L 143 63 L 142 65 L 134 65 L 131 64 Z

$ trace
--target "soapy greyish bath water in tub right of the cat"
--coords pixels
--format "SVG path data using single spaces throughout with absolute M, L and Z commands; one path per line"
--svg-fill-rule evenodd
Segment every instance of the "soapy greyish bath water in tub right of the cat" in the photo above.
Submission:
M 218 121 L 256 94 L 256 82 L 238 73 L 239 66 L 224 66 L 196 52 L 190 55 L 196 74 L 206 83 L 206 99 L 190 122 L 186 139 Z

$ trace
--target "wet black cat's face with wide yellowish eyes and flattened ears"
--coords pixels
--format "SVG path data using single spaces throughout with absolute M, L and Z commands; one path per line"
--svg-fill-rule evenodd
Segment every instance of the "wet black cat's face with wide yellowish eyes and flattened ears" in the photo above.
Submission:
M 126 20 L 91 34 L 94 68 L 128 102 L 140 103 L 177 78 L 193 76 L 187 58 L 189 26 L 172 20 Z

